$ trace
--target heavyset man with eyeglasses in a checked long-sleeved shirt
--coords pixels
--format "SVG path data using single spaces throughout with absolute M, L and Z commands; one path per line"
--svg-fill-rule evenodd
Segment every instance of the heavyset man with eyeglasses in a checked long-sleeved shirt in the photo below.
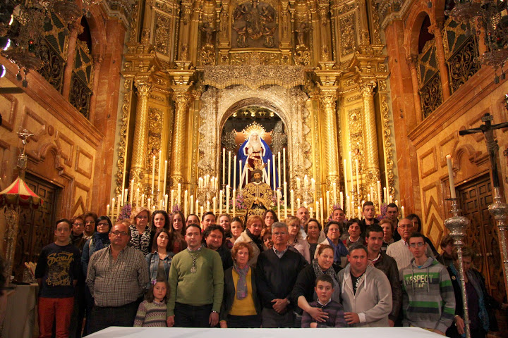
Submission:
M 86 283 L 95 300 L 90 333 L 134 323 L 149 278 L 145 256 L 127 246 L 130 239 L 129 227 L 117 223 L 109 232 L 111 244 L 90 258 Z

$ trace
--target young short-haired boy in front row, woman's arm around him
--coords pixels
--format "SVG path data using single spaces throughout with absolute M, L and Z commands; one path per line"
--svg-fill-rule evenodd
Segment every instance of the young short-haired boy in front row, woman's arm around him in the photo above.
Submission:
M 321 308 L 327 313 L 325 322 L 317 323 L 306 311 L 302 315 L 302 327 L 348 327 L 344 319 L 344 308 L 340 303 L 332 300 L 333 280 L 329 275 L 320 275 L 316 279 L 314 288 L 317 301 L 309 303 L 313 308 Z

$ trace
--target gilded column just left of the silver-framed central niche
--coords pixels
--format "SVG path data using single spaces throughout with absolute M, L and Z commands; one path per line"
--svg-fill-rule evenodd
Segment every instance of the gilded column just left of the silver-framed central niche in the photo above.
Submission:
M 177 91 L 174 94 L 175 121 L 173 132 L 173 154 L 171 155 L 171 185 L 176 186 L 183 181 L 183 165 L 185 162 L 185 122 L 187 104 L 190 100 L 188 92 Z

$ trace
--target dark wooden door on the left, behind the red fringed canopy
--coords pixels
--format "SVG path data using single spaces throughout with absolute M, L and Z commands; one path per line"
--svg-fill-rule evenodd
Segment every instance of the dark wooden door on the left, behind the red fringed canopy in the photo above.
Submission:
M 29 173 L 25 174 L 25 182 L 44 203 L 37 210 L 24 209 L 20 213 L 13 265 L 17 280 L 23 277 L 24 263 L 37 263 L 42 248 L 54 240 L 56 201 L 60 191 L 56 185 Z

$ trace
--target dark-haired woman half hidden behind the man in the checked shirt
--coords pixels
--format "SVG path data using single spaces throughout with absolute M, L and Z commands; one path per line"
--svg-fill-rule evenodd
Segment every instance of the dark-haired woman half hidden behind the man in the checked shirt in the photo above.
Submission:
M 85 246 L 83 246 L 83 253 L 81 254 L 81 266 L 83 267 L 83 275 L 85 276 L 85 280 L 87 277 L 88 270 L 88 262 L 90 261 L 90 257 L 95 253 L 95 251 L 99 251 L 101 249 L 107 248 L 111 242 L 109 242 L 109 230 L 111 230 L 111 220 L 107 216 L 101 216 L 97 218 L 95 221 L 95 232 L 92 234 L 92 237 L 87 240 Z M 83 336 L 87 335 L 89 331 L 88 323 L 90 323 L 90 313 L 92 313 L 92 307 L 94 300 L 92 295 L 90 294 L 90 289 L 85 287 L 85 303 L 86 303 L 86 324 L 85 330 L 83 331 Z

